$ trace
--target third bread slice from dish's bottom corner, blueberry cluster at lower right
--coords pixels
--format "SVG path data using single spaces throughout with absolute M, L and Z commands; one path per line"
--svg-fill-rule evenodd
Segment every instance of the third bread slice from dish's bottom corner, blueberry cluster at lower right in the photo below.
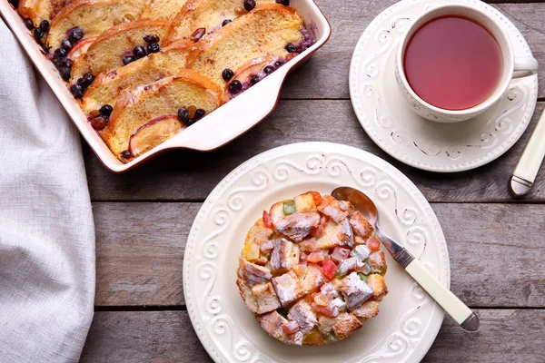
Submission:
M 75 60 L 70 83 L 74 83 L 87 72 L 96 76 L 123 67 L 125 55 L 133 54 L 133 49 L 137 45 L 144 47 L 147 45 L 143 39 L 144 35 L 159 36 L 161 45 L 170 24 L 168 20 L 138 20 L 114 25 L 97 36 L 84 56 Z

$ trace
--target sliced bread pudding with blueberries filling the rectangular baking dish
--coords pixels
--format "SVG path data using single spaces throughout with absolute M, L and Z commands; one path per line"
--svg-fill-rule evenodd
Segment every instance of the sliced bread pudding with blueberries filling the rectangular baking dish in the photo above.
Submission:
M 290 0 L 9 1 L 122 162 L 314 44 Z

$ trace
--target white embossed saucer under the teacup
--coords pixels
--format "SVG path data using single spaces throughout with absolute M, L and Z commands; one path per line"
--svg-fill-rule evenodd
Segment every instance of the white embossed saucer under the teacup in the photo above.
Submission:
M 471 4 L 505 25 L 515 56 L 531 55 L 530 46 L 510 20 L 478 0 Z M 513 80 L 490 110 L 463 123 L 433 123 L 413 113 L 394 76 L 398 44 L 411 18 L 441 0 L 403 0 L 377 16 L 365 29 L 352 55 L 350 94 L 355 113 L 384 152 L 415 168 L 461 172 L 498 158 L 519 140 L 537 103 L 538 76 Z

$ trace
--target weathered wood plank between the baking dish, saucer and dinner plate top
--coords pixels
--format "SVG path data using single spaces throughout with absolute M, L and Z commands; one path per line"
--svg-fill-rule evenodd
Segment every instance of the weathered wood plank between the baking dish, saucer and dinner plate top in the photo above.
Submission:
M 392 159 L 362 130 L 350 101 L 281 101 L 263 123 L 214 152 L 171 151 L 132 172 L 104 169 L 88 147 L 85 160 L 93 200 L 203 201 L 222 178 L 254 155 L 291 142 L 339 142 L 372 152 L 391 162 L 416 183 L 429 201 L 512 201 L 510 174 L 530 137 L 533 122 L 499 160 L 477 170 L 454 174 L 421 172 Z M 526 200 L 545 201 L 545 166 Z

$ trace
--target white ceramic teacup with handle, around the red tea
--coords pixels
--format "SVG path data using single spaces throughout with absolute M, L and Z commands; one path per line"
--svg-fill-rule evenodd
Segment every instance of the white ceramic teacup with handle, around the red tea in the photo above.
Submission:
M 490 97 L 484 102 L 464 110 L 445 110 L 422 100 L 421 97 L 412 90 L 411 85 L 407 81 L 403 67 L 405 48 L 407 47 L 412 34 L 419 30 L 421 25 L 444 15 L 461 15 L 484 25 L 496 38 L 498 44 L 500 44 L 501 54 L 503 55 L 503 72 L 496 90 L 490 94 Z M 461 4 L 438 5 L 426 11 L 416 19 L 413 19 L 411 25 L 409 25 L 401 37 L 395 62 L 397 83 L 401 89 L 401 93 L 405 95 L 405 98 L 411 105 L 411 109 L 422 117 L 439 123 L 458 123 L 483 113 L 500 99 L 501 94 L 505 93 L 511 79 L 536 74 L 537 71 L 538 61 L 534 58 L 514 56 L 509 36 L 505 33 L 497 20 L 475 6 Z

